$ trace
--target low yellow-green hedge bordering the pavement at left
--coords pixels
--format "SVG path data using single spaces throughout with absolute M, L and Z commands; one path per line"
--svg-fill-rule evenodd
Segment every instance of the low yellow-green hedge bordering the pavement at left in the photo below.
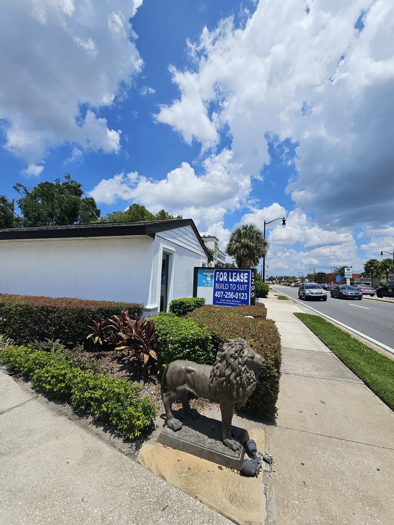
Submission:
M 130 439 L 149 426 L 156 415 L 140 387 L 124 379 L 114 379 L 92 370 L 82 371 L 59 352 L 35 351 L 30 346 L 0 349 L 0 361 L 25 374 L 33 386 L 57 395 L 70 395 L 76 408 L 92 414 L 105 414 L 118 431 Z

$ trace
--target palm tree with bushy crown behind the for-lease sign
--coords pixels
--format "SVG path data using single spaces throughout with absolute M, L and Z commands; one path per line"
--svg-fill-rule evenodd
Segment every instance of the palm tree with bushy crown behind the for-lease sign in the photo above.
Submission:
M 235 259 L 239 268 L 251 268 L 267 255 L 269 243 L 253 223 L 235 228 L 226 246 L 226 254 Z

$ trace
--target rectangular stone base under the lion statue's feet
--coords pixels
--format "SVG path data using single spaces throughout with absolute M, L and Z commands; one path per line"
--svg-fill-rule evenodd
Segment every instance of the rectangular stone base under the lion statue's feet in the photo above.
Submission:
M 217 419 L 200 415 L 197 419 L 187 418 L 182 423 L 182 428 L 177 432 L 165 426 L 157 438 L 158 442 L 193 456 L 208 459 L 223 467 L 241 470 L 245 456 L 243 445 L 249 438 L 244 428 L 231 427 L 232 436 L 242 445 L 240 450 L 234 452 L 223 445 L 222 423 Z

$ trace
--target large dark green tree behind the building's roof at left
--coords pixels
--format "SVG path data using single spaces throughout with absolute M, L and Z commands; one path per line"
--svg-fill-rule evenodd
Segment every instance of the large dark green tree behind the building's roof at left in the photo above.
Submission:
M 22 226 L 66 226 L 95 222 L 100 210 L 93 197 L 84 197 L 82 184 L 67 173 L 64 181 L 40 182 L 31 190 L 23 184 L 14 186 L 19 193 L 17 200 L 23 214 Z

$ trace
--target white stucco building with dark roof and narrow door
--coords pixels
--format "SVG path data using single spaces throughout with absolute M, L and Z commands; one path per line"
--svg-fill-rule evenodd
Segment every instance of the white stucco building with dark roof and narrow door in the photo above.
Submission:
M 0 293 L 140 302 L 193 295 L 209 255 L 192 219 L 0 230 Z

